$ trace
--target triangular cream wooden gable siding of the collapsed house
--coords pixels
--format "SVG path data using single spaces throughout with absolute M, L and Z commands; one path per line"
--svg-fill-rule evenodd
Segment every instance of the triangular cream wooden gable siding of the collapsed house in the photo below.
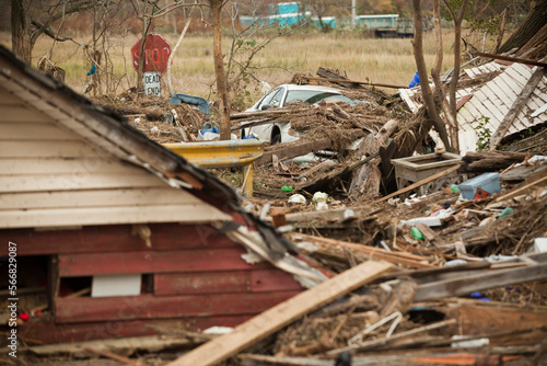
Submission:
M 97 149 L 0 88 L 0 227 L 226 218 L 188 192 Z

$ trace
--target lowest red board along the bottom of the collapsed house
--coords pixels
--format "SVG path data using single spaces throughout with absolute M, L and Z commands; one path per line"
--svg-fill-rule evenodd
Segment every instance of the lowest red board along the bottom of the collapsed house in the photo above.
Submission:
M 82 342 L 101 339 L 114 339 L 124 336 L 142 336 L 163 334 L 154 330 L 188 330 L 202 331 L 210 327 L 236 327 L 253 318 L 253 314 L 232 317 L 208 317 L 208 318 L 178 318 L 178 319 L 150 319 L 130 321 L 104 321 L 86 323 L 24 323 L 18 325 L 18 336 L 25 340 L 36 340 L 44 344 Z M 0 331 L 9 331 L 7 325 L 0 327 Z

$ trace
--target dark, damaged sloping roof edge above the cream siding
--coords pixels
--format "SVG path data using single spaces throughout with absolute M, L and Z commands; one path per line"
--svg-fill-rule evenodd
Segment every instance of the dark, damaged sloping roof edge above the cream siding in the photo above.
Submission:
M 237 193 L 214 175 L 190 164 L 127 124 L 115 112 L 93 104 L 0 46 L 0 81 L 11 94 L 117 158 L 143 167 L 170 185 L 217 204 L 240 203 Z M 209 202 L 210 203 L 210 202 Z

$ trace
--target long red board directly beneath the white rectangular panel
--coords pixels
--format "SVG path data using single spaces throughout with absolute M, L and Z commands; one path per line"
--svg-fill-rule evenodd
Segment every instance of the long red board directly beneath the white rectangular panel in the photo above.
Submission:
M 245 316 L 259 313 L 300 291 L 181 296 L 60 298 L 56 322 L 78 323 L 177 317 Z

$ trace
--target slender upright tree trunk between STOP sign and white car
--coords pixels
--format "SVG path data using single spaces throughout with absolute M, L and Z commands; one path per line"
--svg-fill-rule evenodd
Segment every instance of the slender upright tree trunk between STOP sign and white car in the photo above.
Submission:
M 222 0 L 209 0 L 213 22 L 213 57 L 217 93 L 219 95 L 219 129 L 220 139 L 230 139 L 230 104 L 228 100 L 228 83 L 224 75 L 224 57 L 222 55 Z

